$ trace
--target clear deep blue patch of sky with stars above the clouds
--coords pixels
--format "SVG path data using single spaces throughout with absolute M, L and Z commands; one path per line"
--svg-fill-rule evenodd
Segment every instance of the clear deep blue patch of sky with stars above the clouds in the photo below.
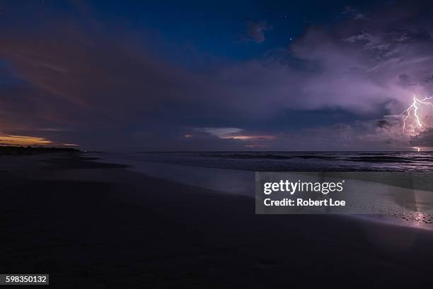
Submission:
M 88 17 L 110 28 L 125 25 L 137 33 L 156 35 L 168 45 L 157 47 L 162 54 L 190 64 L 195 56 L 178 54 L 171 44 L 190 45 L 199 54 L 226 61 L 243 61 L 288 47 L 310 25 L 332 25 L 344 19 L 341 11 L 352 5 L 371 6 L 366 1 L 91 1 Z M 242 40 L 248 20 L 264 20 L 272 26 L 265 42 L 251 45 Z

